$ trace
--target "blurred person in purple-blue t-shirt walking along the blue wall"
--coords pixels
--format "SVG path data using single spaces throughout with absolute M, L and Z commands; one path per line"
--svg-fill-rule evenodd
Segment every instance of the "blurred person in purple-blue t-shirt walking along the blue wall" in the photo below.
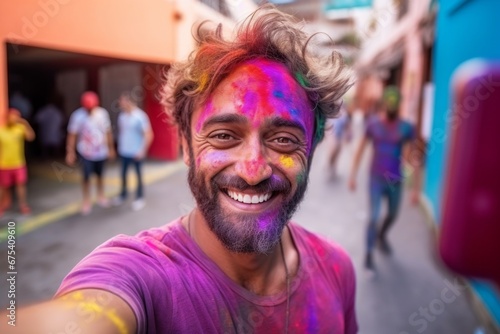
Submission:
M 397 87 L 388 86 L 384 89 L 382 100 L 377 103 L 378 113 L 369 118 L 365 134 L 359 143 L 354 156 L 349 188 L 356 189 L 356 174 L 361 163 L 361 158 L 368 143 L 373 145 L 373 158 L 369 176 L 369 221 L 366 233 L 365 267 L 374 269 L 373 250 L 378 242 L 380 249 L 385 254 L 391 253 L 387 241 L 387 233 L 396 220 L 401 193 L 403 190 L 404 175 L 401 170 L 403 149 L 409 148 L 415 140 L 415 128 L 412 124 L 399 118 L 401 95 Z M 418 174 L 418 169 L 416 170 Z M 415 178 L 418 175 L 415 174 Z M 418 200 L 418 182 L 413 182 L 414 189 L 411 200 Z M 377 230 L 382 200 L 388 203 L 387 216 L 382 226 Z

